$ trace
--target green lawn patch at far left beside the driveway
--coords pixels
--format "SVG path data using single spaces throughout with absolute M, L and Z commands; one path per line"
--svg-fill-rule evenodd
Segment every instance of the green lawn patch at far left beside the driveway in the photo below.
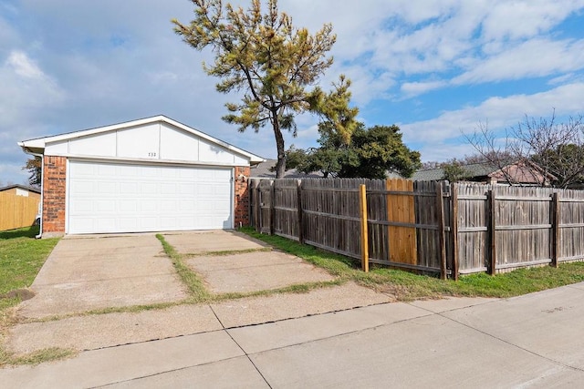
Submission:
M 30 286 L 58 238 L 36 240 L 38 226 L 0 232 L 0 310 L 20 302 L 15 291 Z

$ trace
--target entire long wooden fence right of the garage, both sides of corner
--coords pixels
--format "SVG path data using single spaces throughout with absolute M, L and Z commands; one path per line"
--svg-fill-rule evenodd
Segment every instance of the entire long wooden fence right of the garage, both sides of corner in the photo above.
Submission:
M 439 273 L 584 260 L 584 192 L 407 179 L 252 179 L 252 225 L 328 251 Z

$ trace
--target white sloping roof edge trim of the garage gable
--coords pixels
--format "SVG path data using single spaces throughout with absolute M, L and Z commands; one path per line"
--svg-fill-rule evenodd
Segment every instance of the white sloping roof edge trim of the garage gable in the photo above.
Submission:
M 203 138 L 203 139 L 208 140 L 209 142 L 212 142 L 218 146 L 221 146 L 223 148 L 227 148 L 231 151 L 234 151 L 237 154 L 244 155 L 245 157 L 250 159 L 250 162 L 252 164 L 263 162 L 265 160 L 262 157 L 259 157 L 255 154 L 250 153 L 249 151 L 245 151 L 242 148 L 236 148 L 235 146 L 233 146 L 229 143 L 226 143 L 223 140 L 211 137 L 210 135 L 207 135 L 204 132 L 199 131 L 198 129 L 186 126 L 183 123 L 178 122 L 176 120 L 173 120 L 172 118 L 167 118 L 164 115 L 158 115 L 158 116 L 151 117 L 151 118 L 141 118 L 141 119 L 137 119 L 137 120 L 131 120 L 128 122 L 113 124 L 113 125 L 105 126 L 105 127 L 83 129 L 83 130 L 68 132 L 65 134 L 59 134 L 59 135 L 55 135 L 55 136 L 51 136 L 51 137 L 33 138 L 33 139 L 23 140 L 21 142 L 18 142 L 18 146 L 23 148 L 23 150 L 28 154 L 43 154 L 48 143 L 59 142 L 59 141 L 75 139 L 75 138 L 83 138 L 83 137 L 88 137 L 88 136 L 92 136 L 92 135 L 99 135 L 102 133 L 107 133 L 107 132 L 115 131 L 118 129 L 133 128 L 133 127 L 138 127 L 138 126 L 143 126 L 143 125 L 147 125 L 147 124 L 151 124 L 151 123 L 158 123 L 158 122 L 167 123 L 167 124 L 174 126 L 176 128 L 181 128 L 183 131 L 188 132 L 190 134 L 193 134 L 196 137 Z

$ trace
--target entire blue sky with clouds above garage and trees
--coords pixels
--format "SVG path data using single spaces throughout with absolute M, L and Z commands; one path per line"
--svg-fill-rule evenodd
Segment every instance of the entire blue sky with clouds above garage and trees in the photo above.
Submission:
M 235 5 L 248 5 L 237 0 Z M 356 4 L 359 4 L 357 6 Z M 327 87 L 345 74 L 368 126 L 397 124 L 423 160 L 473 154 L 478 123 L 503 131 L 525 115 L 584 114 L 584 0 L 280 0 L 296 26 L 338 35 Z M 158 114 L 274 158 L 270 128 L 221 120 L 216 80 L 172 32 L 188 0 L 4 0 L 0 3 L 0 184 L 25 183 L 19 140 Z M 286 146 L 316 145 L 297 118 Z

